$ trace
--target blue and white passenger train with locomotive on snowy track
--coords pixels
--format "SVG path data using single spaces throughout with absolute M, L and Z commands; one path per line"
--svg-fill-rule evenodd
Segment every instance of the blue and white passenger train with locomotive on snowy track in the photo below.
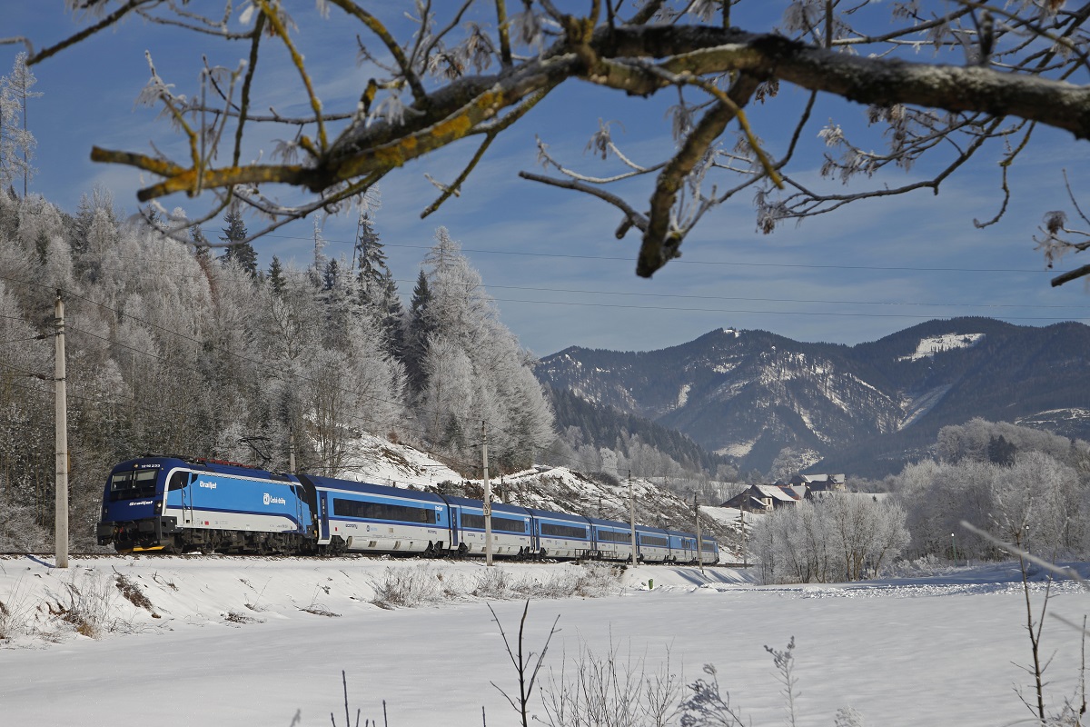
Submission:
M 234 462 L 147 456 L 116 465 L 99 545 L 119 553 L 485 554 L 484 502 Z M 520 560 L 632 560 L 629 523 L 492 505 L 492 553 Z M 716 564 L 713 537 L 635 525 L 637 560 Z

